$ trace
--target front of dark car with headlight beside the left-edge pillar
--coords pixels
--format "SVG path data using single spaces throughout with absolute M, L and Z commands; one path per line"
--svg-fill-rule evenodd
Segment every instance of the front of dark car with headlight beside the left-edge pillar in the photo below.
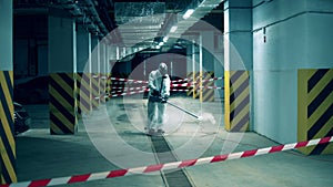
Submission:
M 14 106 L 14 134 L 18 135 L 20 133 L 27 132 L 30 128 L 31 118 L 26 111 L 26 108 L 19 104 L 13 102 Z

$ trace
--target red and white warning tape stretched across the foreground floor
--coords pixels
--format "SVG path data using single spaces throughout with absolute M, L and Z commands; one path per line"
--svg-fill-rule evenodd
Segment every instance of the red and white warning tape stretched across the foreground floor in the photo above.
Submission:
M 188 159 L 188 160 L 182 160 L 182 162 L 157 164 L 157 165 L 150 165 L 150 166 L 144 166 L 144 167 L 127 168 L 127 169 L 119 169 L 119 170 L 111 170 L 111 172 L 103 172 L 103 173 L 74 175 L 74 176 L 70 176 L 70 177 L 21 181 L 21 183 L 10 184 L 10 185 L 0 185 L 0 187 L 9 187 L 9 186 L 10 187 L 26 187 L 26 186 L 27 187 L 28 186 L 29 187 L 40 187 L 40 186 L 73 184 L 73 183 L 80 183 L 80 181 L 91 181 L 91 180 L 122 177 L 122 176 L 129 176 L 129 175 L 135 175 L 135 174 L 147 174 L 147 173 L 159 172 L 159 170 L 184 168 L 184 167 L 196 166 L 196 165 L 202 165 L 202 164 L 224 162 L 224 160 L 229 160 L 229 159 L 239 159 L 239 158 L 271 154 L 271 153 L 283 152 L 283 150 L 289 150 L 289 149 L 294 149 L 294 148 L 307 147 L 307 146 L 317 145 L 317 144 L 325 144 L 325 143 L 330 143 L 330 142 L 333 142 L 333 136 L 312 139 L 312 141 L 307 141 L 307 142 L 299 142 L 299 143 L 294 143 L 294 144 L 278 145 L 278 146 L 273 146 L 273 147 L 232 153 L 232 154 L 226 154 L 226 155 L 216 155 L 216 156 L 198 158 L 198 159 Z

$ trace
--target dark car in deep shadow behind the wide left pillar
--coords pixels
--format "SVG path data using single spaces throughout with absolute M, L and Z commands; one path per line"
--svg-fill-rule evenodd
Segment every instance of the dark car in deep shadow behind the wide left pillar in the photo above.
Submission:
M 21 83 L 14 81 L 13 96 L 16 102 L 22 104 L 48 103 L 49 76 L 38 76 Z

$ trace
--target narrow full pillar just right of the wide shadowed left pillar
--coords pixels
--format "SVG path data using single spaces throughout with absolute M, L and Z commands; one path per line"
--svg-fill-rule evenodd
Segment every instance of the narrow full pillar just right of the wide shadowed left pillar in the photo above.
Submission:
M 77 31 L 77 83 L 78 83 L 78 111 L 88 114 L 91 111 L 91 37 L 82 25 Z

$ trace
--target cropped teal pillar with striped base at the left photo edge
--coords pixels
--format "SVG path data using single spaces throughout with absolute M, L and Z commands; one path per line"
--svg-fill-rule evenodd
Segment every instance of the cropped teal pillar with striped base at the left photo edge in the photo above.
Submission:
M 18 181 L 13 137 L 12 2 L 0 1 L 0 184 Z

